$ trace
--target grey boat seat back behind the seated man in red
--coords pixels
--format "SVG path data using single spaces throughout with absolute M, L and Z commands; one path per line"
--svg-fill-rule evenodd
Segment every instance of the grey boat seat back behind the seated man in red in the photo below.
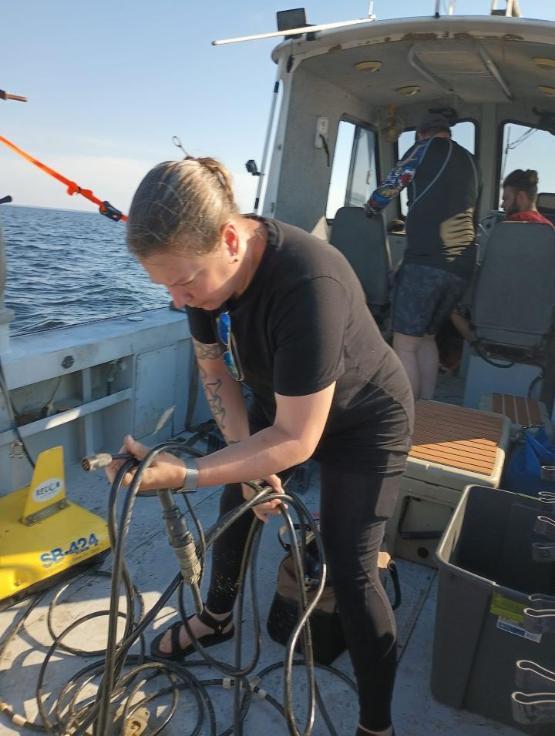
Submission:
M 555 229 L 527 222 L 493 228 L 476 278 L 472 323 L 489 352 L 520 362 L 545 352 L 555 326 Z

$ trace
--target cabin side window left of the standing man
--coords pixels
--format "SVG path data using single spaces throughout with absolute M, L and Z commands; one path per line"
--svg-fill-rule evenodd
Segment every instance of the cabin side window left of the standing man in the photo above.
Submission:
M 371 128 L 341 120 L 333 154 L 326 217 L 340 207 L 362 207 L 376 188 L 376 135 Z

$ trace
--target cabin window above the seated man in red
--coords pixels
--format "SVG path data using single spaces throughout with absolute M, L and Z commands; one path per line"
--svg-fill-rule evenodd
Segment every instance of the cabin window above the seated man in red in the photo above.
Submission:
M 538 172 L 538 192 L 555 192 L 553 172 L 553 136 L 546 130 L 527 125 L 505 123 L 499 176 L 499 196 L 494 207 L 501 207 L 503 179 L 515 169 Z

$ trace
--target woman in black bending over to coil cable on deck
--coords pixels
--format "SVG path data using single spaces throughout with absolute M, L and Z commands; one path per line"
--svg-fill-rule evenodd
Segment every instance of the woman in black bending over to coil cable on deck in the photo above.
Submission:
M 185 306 L 199 371 L 228 447 L 184 463 L 160 457 L 141 488 L 226 484 L 221 513 L 251 498 L 241 482 L 314 457 L 321 528 L 359 688 L 357 735 L 390 736 L 396 668 L 393 613 L 378 551 L 397 498 L 413 424 L 410 385 L 343 256 L 298 228 L 238 213 L 213 159 L 156 166 L 131 205 L 128 244 L 150 279 Z M 250 387 L 248 412 L 241 382 Z M 142 458 L 132 438 L 126 449 Z M 113 470 L 113 469 L 112 469 Z M 261 521 L 280 501 L 257 506 Z M 214 547 L 206 608 L 189 624 L 204 646 L 232 635 L 246 534 L 244 515 Z M 157 657 L 191 651 L 179 623 L 153 642 Z

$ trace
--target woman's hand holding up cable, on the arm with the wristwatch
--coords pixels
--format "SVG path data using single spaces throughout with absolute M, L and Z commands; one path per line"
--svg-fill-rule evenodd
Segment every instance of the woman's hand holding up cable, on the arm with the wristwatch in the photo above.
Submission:
M 127 452 L 140 461 L 150 452 L 150 448 L 137 442 L 131 435 L 127 435 L 120 452 Z M 114 460 L 108 465 L 106 475 L 110 483 L 114 482 L 116 473 L 124 462 L 123 460 Z M 133 469 L 124 475 L 124 485 L 128 486 L 131 483 L 135 472 Z M 185 463 L 169 452 L 161 452 L 156 456 L 152 465 L 145 470 L 139 490 L 152 491 L 158 490 L 159 488 L 181 488 L 185 481 L 185 476 Z

